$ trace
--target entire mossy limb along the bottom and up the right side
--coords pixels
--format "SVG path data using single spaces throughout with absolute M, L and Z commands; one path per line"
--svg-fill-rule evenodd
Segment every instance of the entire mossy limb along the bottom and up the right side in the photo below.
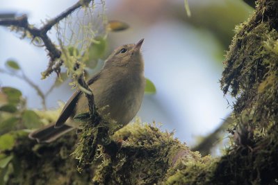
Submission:
M 79 174 L 70 156 L 76 134 L 45 145 L 20 136 L 4 151 L 19 167 L 10 169 L 8 184 L 277 184 L 277 17 L 278 1 L 261 0 L 236 28 L 220 80 L 224 94 L 237 98 L 236 130 L 224 156 L 201 157 L 172 134 L 135 123 L 113 135 L 122 143 L 115 157 L 99 146 L 95 161 Z

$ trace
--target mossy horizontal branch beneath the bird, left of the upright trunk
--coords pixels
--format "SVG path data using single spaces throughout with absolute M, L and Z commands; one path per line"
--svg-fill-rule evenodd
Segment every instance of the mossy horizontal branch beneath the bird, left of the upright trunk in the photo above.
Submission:
M 167 170 L 180 158 L 197 161 L 198 152 L 174 139 L 156 126 L 131 123 L 113 135 L 122 146 L 111 158 L 99 146 L 95 161 L 76 170 L 78 160 L 70 156 L 76 147 L 71 132 L 54 143 L 38 144 L 20 136 L 11 151 L 18 169 L 10 174 L 8 184 L 154 184 L 162 182 Z M 18 173 L 19 172 L 19 173 Z

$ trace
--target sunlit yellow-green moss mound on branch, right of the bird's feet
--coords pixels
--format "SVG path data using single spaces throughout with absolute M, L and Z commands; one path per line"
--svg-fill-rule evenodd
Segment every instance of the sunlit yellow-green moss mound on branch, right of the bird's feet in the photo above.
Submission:
M 194 154 L 172 133 L 161 132 L 156 125 L 129 124 L 117 131 L 113 139 L 122 141 L 122 146 L 115 159 L 107 157 L 101 148 L 104 162 L 94 177 L 100 184 L 155 184 L 163 181 L 180 151 L 183 157 Z

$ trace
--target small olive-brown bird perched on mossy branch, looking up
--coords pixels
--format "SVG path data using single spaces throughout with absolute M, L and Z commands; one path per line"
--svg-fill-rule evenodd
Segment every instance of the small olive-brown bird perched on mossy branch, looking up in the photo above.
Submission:
M 88 80 L 100 116 L 108 116 L 118 128 L 128 124 L 137 114 L 145 91 L 144 60 L 141 46 L 124 44 L 115 49 L 104 67 Z M 79 128 L 74 116 L 89 112 L 88 100 L 80 89 L 67 100 L 56 122 L 31 132 L 28 137 L 39 143 L 50 143 L 63 134 Z

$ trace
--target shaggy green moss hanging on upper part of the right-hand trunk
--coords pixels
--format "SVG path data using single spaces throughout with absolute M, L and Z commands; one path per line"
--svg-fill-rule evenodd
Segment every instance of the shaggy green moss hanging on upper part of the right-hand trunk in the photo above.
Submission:
M 236 28 L 220 81 L 224 94 L 237 98 L 238 123 L 247 116 L 256 130 L 267 130 L 278 116 L 277 8 L 277 1 L 259 1 L 254 15 Z

